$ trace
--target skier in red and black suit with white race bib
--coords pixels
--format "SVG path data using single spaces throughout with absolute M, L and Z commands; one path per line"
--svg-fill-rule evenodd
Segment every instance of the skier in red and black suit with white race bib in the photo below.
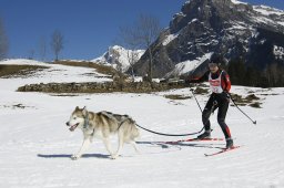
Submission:
M 197 136 L 197 139 L 210 138 L 211 137 L 211 114 L 219 108 L 217 112 L 217 123 L 220 124 L 222 132 L 226 139 L 226 148 L 233 147 L 233 139 L 230 133 L 230 128 L 225 123 L 226 112 L 230 103 L 230 88 L 231 81 L 229 74 L 220 67 L 223 58 L 221 55 L 213 54 L 209 61 L 209 69 L 203 76 L 191 79 L 190 82 L 204 82 L 209 81 L 212 94 L 202 112 L 202 122 L 205 132 Z

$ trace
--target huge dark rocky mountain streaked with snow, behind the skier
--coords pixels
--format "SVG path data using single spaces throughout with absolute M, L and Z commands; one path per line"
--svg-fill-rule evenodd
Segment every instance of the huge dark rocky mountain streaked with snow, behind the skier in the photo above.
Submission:
M 284 62 L 284 11 L 236 0 L 186 1 L 151 49 L 154 77 L 203 72 L 214 52 L 264 69 Z M 148 64 L 144 53 L 134 72 L 145 74 Z

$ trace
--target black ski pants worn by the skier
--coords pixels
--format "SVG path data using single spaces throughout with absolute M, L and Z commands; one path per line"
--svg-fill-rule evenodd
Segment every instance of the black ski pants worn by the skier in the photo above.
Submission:
M 226 112 L 229 108 L 230 97 L 226 93 L 212 93 L 205 108 L 202 112 L 202 122 L 205 130 L 211 132 L 210 116 L 211 114 L 219 108 L 217 111 L 217 123 L 222 128 L 225 138 L 231 138 L 230 128 L 225 123 Z

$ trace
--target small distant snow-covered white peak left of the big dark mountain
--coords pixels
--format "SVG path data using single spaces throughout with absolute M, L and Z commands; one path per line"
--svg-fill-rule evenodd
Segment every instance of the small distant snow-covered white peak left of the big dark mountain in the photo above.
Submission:
M 133 55 L 133 63 L 135 63 L 142 56 L 143 53 L 143 50 L 132 51 L 119 45 L 114 45 L 110 46 L 109 50 L 102 56 L 91 61 L 98 64 L 110 65 L 116 70 L 125 72 L 130 67 L 131 55 Z

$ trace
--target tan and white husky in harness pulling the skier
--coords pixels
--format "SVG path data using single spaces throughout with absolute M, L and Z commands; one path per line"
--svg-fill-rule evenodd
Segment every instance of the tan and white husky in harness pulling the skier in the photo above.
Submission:
M 79 108 L 78 106 L 71 114 L 69 122 L 67 122 L 70 130 L 81 128 L 83 132 L 83 144 L 80 150 L 72 155 L 72 159 L 79 159 L 87 150 L 93 137 L 99 137 L 103 140 L 106 150 L 110 153 L 111 158 L 115 159 L 124 143 L 130 143 L 136 152 L 135 138 L 139 137 L 139 129 L 135 122 L 128 115 L 112 114 L 110 112 L 88 112 L 85 107 Z M 119 146 L 115 153 L 112 152 L 110 145 L 110 135 L 118 134 Z

